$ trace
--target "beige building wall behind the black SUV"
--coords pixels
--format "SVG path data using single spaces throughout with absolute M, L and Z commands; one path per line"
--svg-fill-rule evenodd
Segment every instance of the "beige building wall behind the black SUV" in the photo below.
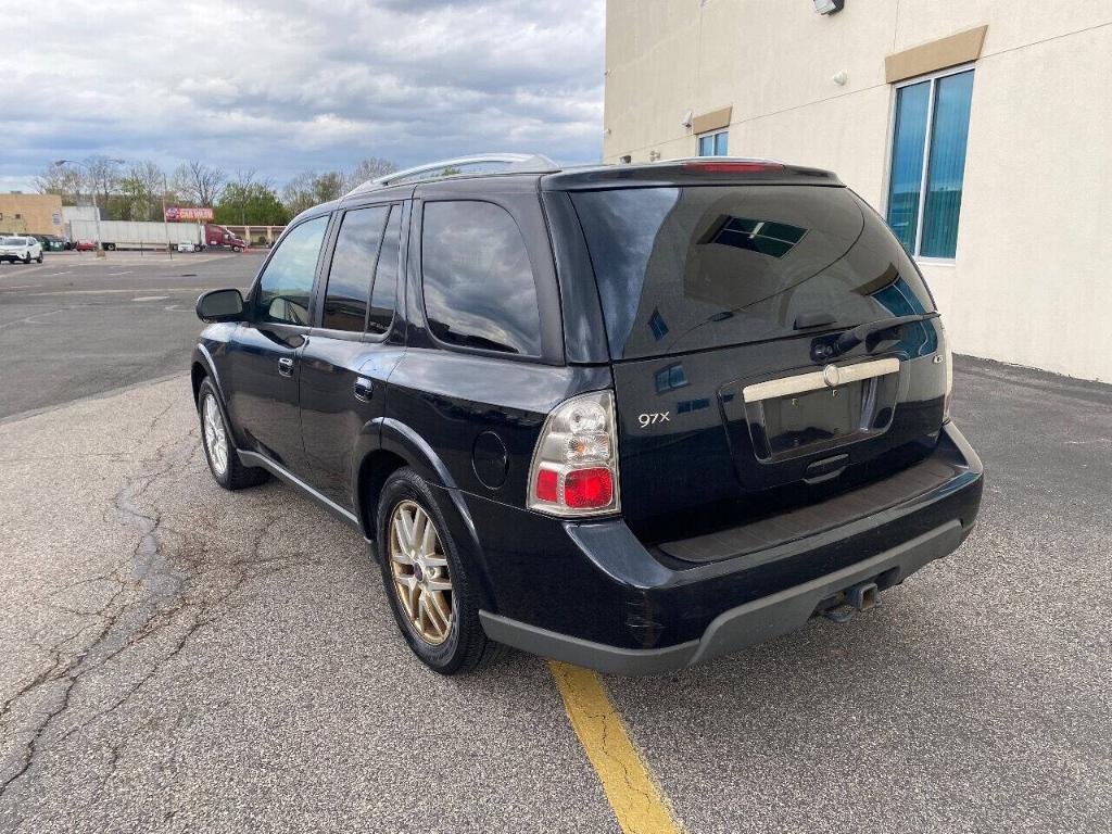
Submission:
M 604 157 L 695 156 L 684 117 L 731 108 L 732 156 L 833 169 L 883 214 L 885 58 L 979 27 L 957 252 L 920 266 L 959 353 L 1110 381 L 1110 0 L 608 0 Z

